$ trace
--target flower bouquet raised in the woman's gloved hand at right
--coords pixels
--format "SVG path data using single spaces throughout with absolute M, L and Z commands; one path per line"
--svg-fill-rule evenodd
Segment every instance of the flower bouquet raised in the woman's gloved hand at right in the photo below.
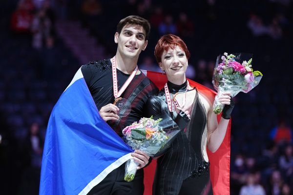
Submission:
M 223 92 L 230 92 L 231 97 L 235 97 L 239 92 L 248 93 L 258 85 L 263 75 L 259 71 L 253 71 L 251 57 L 251 54 L 244 53 L 224 53 L 223 56 L 218 56 L 212 78 L 212 84 L 218 92 L 213 104 L 215 114 L 220 114 L 224 108 L 218 99 Z

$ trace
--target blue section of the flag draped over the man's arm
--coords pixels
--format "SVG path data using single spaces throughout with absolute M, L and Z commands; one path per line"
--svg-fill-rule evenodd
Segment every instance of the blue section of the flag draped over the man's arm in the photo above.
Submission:
M 86 186 L 91 189 L 90 182 L 103 179 L 108 174 L 106 168 L 111 171 L 115 162 L 120 166 L 129 158 L 120 162 L 117 159 L 131 152 L 101 118 L 84 78 L 80 78 L 63 92 L 51 113 L 40 195 L 76 195 Z

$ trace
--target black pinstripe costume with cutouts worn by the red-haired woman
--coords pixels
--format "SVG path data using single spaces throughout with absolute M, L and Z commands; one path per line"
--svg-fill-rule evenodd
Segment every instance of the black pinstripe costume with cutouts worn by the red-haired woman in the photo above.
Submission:
M 172 94 L 185 91 L 187 87 L 187 84 L 178 86 L 169 81 L 167 84 Z M 177 113 L 168 111 L 164 90 L 149 98 L 148 104 L 148 108 L 152 104 L 148 115 L 167 112 L 176 120 Z M 207 114 L 197 92 L 189 113 L 191 120 L 186 129 L 180 132 L 167 152 L 157 160 L 153 195 L 212 195 L 209 162 L 203 157 L 207 139 Z

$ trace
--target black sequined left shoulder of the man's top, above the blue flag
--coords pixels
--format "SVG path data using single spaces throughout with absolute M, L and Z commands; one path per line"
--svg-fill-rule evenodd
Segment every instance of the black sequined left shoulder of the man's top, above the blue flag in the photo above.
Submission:
M 90 61 L 82 65 L 82 70 L 89 70 L 93 72 L 108 72 L 111 70 L 112 63 L 110 59 L 102 59 L 96 61 Z

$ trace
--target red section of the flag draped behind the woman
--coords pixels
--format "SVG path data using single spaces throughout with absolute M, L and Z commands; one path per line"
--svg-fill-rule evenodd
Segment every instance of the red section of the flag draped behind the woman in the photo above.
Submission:
M 146 76 L 161 90 L 167 82 L 165 74 L 147 71 Z M 189 84 L 205 95 L 215 96 L 216 93 L 197 83 L 193 80 L 188 79 Z M 221 115 L 218 115 L 218 121 L 221 119 Z M 230 127 L 231 121 L 229 122 L 226 136 L 223 143 L 215 153 L 208 151 L 209 162 L 210 162 L 210 178 L 213 188 L 214 195 L 230 195 Z M 156 169 L 156 160 L 153 160 L 145 169 L 145 193 L 144 195 L 152 194 L 152 183 L 154 179 Z

